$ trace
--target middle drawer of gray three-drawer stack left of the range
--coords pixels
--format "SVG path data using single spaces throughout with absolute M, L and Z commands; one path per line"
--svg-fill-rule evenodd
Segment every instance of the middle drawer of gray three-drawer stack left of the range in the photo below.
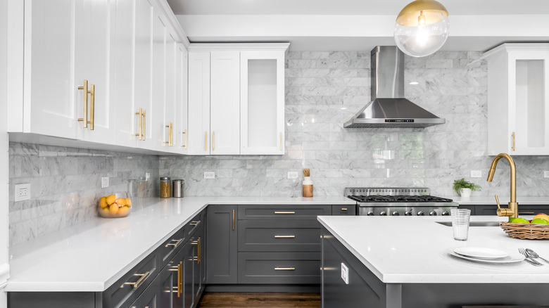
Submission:
M 243 220 L 239 228 L 239 251 L 320 251 L 315 220 Z

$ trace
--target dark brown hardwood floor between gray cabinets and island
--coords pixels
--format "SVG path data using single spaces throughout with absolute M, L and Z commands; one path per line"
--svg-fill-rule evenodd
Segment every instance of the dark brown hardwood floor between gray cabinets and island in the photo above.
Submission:
M 320 307 L 320 293 L 204 293 L 198 307 Z

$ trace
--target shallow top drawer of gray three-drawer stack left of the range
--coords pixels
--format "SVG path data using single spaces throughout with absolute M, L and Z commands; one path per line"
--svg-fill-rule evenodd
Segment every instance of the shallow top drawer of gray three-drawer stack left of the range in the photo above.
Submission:
M 332 205 L 240 205 L 239 219 L 317 219 L 331 215 Z

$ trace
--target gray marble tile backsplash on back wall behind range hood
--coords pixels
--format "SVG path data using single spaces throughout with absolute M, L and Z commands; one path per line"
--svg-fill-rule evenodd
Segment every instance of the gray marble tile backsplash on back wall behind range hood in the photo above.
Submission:
M 287 172 L 303 168 L 310 168 L 315 195 L 342 195 L 353 186 L 421 186 L 451 196 L 454 179 L 462 177 L 481 185 L 474 195 L 508 195 L 507 162 L 486 182 L 492 158 L 486 155 L 487 66 L 481 56 L 406 56 L 406 97 L 446 124 L 343 129 L 370 102 L 370 52 L 290 52 L 285 155 L 161 157 L 160 174 L 185 179 L 185 195 L 291 195 Z M 518 195 L 549 195 L 547 157 L 517 156 L 515 162 Z M 470 178 L 471 170 L 481 170 L 482 177 Z M 214 171 L 215 179 L 203 179 L 204 171 Z

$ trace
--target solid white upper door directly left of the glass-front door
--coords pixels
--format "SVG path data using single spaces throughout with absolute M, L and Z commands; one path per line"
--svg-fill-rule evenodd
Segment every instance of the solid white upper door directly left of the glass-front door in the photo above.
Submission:
M 240 53 L 212 51 L 210 130 L 212 155 L 240 154 Z

